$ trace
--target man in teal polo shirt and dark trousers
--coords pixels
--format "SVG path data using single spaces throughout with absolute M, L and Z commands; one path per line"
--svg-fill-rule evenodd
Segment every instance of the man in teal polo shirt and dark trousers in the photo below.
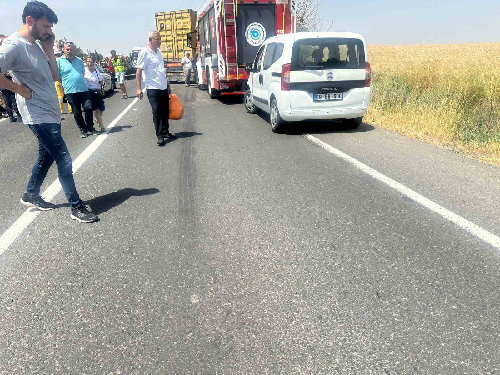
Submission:
M 74 120 L 80 129 L 81 137 L 88 136 L 88 132 L 98 135 L 99 133 L 93 127 L 90 93 L 83 78 L 85 67 L 81 58 L 75 56 L 73 43 L 64 43 L 64 55 L 57 59 L 57 68 L 59 69 L 59 76 L 62 80 L 67 102 L 73 108 Z M 81 107 L 85 112 L 85 120 L 81 115 Z

